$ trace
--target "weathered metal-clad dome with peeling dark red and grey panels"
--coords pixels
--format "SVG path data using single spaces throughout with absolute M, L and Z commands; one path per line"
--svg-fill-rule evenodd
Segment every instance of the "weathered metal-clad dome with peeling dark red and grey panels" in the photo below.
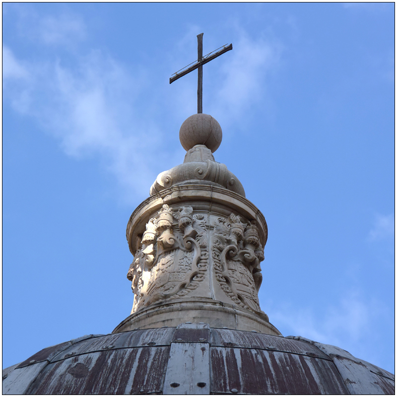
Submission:
M 302 337 L 206 324 L 86 335 L 3 370 L 3 394 L 394 394 L 394 375 Z

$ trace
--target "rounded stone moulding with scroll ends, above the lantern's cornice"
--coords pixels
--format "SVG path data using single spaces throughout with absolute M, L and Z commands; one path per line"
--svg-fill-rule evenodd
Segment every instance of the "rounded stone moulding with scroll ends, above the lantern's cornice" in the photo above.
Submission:
M 189 181 L 213 182 L 245 197 L 243 185 L 225 164 L 212 160 L 185 162 L 159 174 L 150 188 L 150 196 Z

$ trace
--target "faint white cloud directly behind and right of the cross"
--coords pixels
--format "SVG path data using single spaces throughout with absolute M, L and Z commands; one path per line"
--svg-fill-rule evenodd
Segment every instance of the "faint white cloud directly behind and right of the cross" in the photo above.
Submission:
M 222 128 L 236 123 L 246 125 L 247 112 L 267 99 L 266 78 L 270 70 L 278 66 L 282 54 L 279 42 L 261 36 L 251 37 L 236 21 L 228 22 L 227 30 L 230 31 L 227 36 L 234 37 L 233 50 L 203 66 L 203 113 L 213 115 L 221 122 Z M 175 45 L 173 51 L 177 56 L 170 62 L 173 72 L 197 58 L 196 35 L 199 32 L 202 32 L 199 27 L 190 27 Z M 205 35 L 203 42 L 204 55 L 217 48 L 206 43 Z M 216 45 L 224 44 L 227 43 Z M 174 103 L 178 104 L 173 111 L 185 117 L 197 109 L 197 72 L 189 75 L 172 83 L 170 89 L 170 93 L 175 95 Z M 261 113 L 264 113 L 263 109 Z

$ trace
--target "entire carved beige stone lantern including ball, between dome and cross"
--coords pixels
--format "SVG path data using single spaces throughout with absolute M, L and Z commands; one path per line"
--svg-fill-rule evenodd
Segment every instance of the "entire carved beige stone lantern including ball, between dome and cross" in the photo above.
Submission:
M 192 322 L 279 335 L 258 299 L 265 217 L 214 160 L 219 123 L 196 114 L 179 136 L 183 164 L 158 175 L 128 222 L 134 299 L 131 316 L 113 332 Z

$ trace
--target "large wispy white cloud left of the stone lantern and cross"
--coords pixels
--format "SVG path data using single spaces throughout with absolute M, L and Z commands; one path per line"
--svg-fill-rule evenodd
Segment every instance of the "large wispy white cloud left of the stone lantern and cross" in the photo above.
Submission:
M 6 53 L 15 60 L 7 48 Z M 126 196 L 146 196 L 148 181 L 156 176 L 152 168 L 161 168 L 156 167 L 156 157 L 150 166 L 147 136 L 152 149 L 158 147 L 160 137 L 149 117 L 134 114 L 142 89 L 139 76 L 132 79 L 121 65 L 99 52 L 79 59 L 76 70 L 60 63 L 26 65 L 29 79 L 6 92 L 14 109 L 34 117 L 56 136 L 66 154 L 99 154 Z

